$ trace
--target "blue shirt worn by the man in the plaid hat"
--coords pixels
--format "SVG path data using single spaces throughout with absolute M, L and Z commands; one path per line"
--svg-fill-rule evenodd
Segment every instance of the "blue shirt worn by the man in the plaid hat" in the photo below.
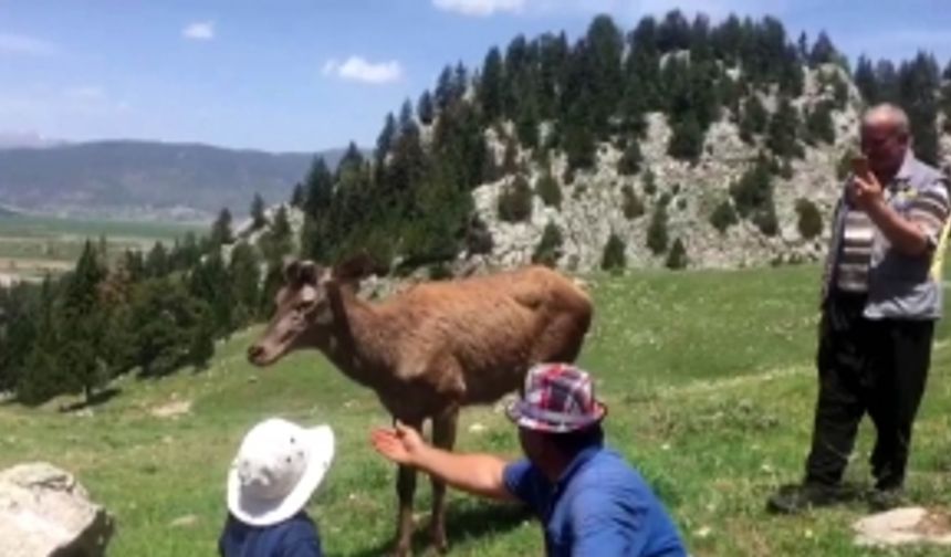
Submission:
M 504 480 L 542 521 L 551 557 L 687 555 L 640 474 L 602 445 L 582 451 L 555 484 L 527 460 L 508 465 Z

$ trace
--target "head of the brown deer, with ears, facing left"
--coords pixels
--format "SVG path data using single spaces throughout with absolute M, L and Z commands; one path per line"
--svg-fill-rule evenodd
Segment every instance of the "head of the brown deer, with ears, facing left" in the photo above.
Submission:
M 358 255 L 334 267 L 313 261 L 284 264 L 284 285 L 274 299 L 274 315 L 257 343 L 248 348 L 248 360 L 270 366 L 299 348 L 316 345 L 331 332 L 336 316 L 332 297 L 341 287 L 379 271 L 367 255 Z

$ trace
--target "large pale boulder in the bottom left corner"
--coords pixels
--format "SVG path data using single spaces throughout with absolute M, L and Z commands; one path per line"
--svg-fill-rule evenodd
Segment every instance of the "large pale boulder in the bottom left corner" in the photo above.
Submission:
M 100 557 L 114 521 L 72 474 L 44 462 L 0 472 L 3 557 Z

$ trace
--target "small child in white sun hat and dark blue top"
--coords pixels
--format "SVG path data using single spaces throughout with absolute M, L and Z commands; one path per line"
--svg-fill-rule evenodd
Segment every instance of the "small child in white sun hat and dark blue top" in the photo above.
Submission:
M 322 557 L 304 507 L 334 455 L 333 431 L 272 418 L 248 432 L 228 473 L 221 557 Z

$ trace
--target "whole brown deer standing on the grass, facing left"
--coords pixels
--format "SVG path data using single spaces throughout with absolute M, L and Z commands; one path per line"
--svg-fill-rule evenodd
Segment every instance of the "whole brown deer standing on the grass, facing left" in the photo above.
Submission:
M 533 364 L 574 361 L 592 318 L 588 296 L 542 266 L 420 283 L 380 303 L 356 295 L 366 258 L 331 270 L 285 265 L 276 312 L 248 359 L 268 366 L 316 348 L 347 377 L 373 389 L 408 427 L 432 421 L 432 442 L 451 450 L 459 409 L 521 389 Z M 396 554 L 410 550 L 416 472 L 400 466 Z M 430 534 L 446 550 L 446 486 L 432 480 Z

